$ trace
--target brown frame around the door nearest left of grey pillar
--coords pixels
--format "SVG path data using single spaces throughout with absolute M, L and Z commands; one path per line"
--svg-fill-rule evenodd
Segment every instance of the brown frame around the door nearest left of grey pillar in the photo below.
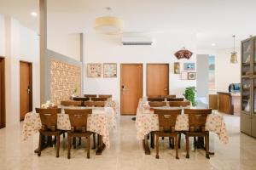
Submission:
M 26 63 L 26 64 L 28 64 L 29 65 L 29 72 L 30 72 L 30 75 L 29 75 L 29 77 L 30 77 L 30 79 L 29 79 L 29 86 L 31 87 L 31 95 L 29 96 L 29 110 L 30 111 L 32 111 L 33 109 L 32 109 L 32 106 L 33 106 L 33 104 L 32 104 L 32 96 L 33 96 L 33 91 L 32 91 L 32 89 L 33 89 L 33 87 L 32 87 L 32 62 L 29 62 L 29 61 L 25 61 L 25 60 L 20 60 L 20 63 Z M 20 121 L 23 121 L 23 119 L 20 119 Z

